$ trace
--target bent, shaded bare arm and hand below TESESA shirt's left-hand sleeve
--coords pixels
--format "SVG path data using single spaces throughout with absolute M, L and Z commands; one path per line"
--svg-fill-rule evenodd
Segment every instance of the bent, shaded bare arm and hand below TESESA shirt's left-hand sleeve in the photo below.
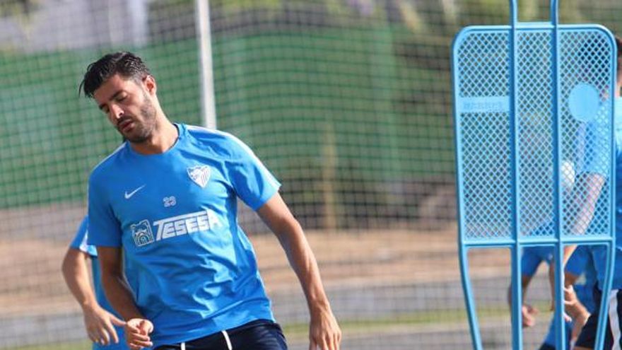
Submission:
M 131 294 L 123 273 L 121 248 L 98 247 L 97 249 L 106 298 L 127 321 L 125 336 L 129 348 L 139 350 L 152 346 L 149 334 L 153 332 L 153 324 L 141 314 L 134 303 L 134 296 Z

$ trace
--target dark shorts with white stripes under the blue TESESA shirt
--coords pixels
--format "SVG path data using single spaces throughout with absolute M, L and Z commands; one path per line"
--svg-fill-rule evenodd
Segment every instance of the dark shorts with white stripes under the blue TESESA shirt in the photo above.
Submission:
M 183 344 L 158 346 L 155 350 L 287 350 L 281 326 L 257 320 L 240 327 L 194 339 Z

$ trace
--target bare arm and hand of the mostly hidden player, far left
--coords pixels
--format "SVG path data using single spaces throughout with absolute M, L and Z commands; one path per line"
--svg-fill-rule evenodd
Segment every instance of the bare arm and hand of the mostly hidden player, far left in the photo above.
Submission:
M 61 268 L 65 282 L 82 307 L 84 326 L 90 340 L 102 345 L 118 343 L 119 337 L 113 325 L 124 325 L 124 322 L 100 307 L 90 286 L 87 259 L 88 255 L 81 250 L 67 250 Z

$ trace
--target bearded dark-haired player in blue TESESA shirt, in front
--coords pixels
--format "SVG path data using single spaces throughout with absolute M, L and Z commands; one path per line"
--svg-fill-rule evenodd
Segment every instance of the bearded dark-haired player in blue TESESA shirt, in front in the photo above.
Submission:
M 238 197 L 275 233 L 298 276 L 310 349 L 339 349 L 315 256 L 280 184 L 250 148 L 224 132 L 169 122 L 155 78 L 134 54 L 90 64 L 81 87 L 128 140 L 93 169 L 88 212 L 89 243 L 131 349 L 287 348 L 237 225 Z

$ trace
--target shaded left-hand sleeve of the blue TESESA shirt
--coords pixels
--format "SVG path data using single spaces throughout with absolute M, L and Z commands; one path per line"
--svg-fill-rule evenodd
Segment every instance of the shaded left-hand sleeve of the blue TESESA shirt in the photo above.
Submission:
M 107 201 L 100 182 L 93 175 L 88 180 L 88 244 L 121 246 L 121 226 Z

